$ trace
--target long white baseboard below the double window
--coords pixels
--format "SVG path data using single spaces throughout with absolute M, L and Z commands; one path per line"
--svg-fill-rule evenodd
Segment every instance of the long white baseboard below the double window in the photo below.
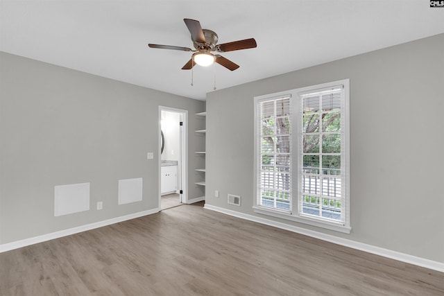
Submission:
M 224 209 L 221 207 L 216 207 L 216 206 L 212 206 L 211 204 L 205 204 L 204 206 L 205 209 L 210 209 L 212 211 L 219 211 L 222 214 L 227 214 L 230 216 L 234 216 L 237 218 L 242 218 L 245 220 L 250 220 L 253 222 L 257 222 L 257 223 L 261 223 L 264 225 L 268 225 L 268 226 L 273 226 L 273 227 L 277 227 L 280 229 L 285 229 L 288 230 L 290 232 L 296 232 L 298 234 L 304 234 L 306 236 L 311 236 L 314 238 L 318 238 L 321 239 L 323 241 L 328 241 L 330 243 L 336 243 L 337 245 L 343 245 L 345 247 L 351 247 L 352 249 L 356 249 L 356 250 L 361 250 L 364 252 L 368 252 L 371 254 L 376 254 L 379 256 L 384 256 L 386 258 L 390 258 L 390 259 L 395 259 L 398 261 L 402 261 L 405 263 L 410 263 L 413 265 L 418 265 L 424 268 L 429 268 L 432 270 L 436 270 L 439 272 L 444 272 L 444 263 L 438 262 L 438 261 L 433 261 L 433 260 L 429 260 L 429 259 L 424 259 L 421 257 L 417 257 L 417 256 L 412 256 L 409 254 L 404 254 L 401 252 L 396 252 L 393 250 L 388 250 L 388 249 L 384 249 L 383 247 L 376 247 L 374 245 L 368 245 L 366 243 L 359 243 L 357 241 L 351 241 L 347 238 L 340 238 L 337 236 L 332 236 L 330 234 L 323 234 L 321 232 L 315 232 L 313 230 L 309 230 L 309 229 L 305 229 L 302 227 L 297 227 L 297 226 L 293 226 L 293 225 L 288 225 L 285 223 L 280 223 L 280 222 L 276 222 L 273 220 L 268 220 L 265 218 L 261 218 L 261 217 L 257 217 L 257 216 L 253 216 L 253 215 L 248 215 L 248 214 L 243 214 L 240 213 L 238 211 L 232 211 L 230 209 Z

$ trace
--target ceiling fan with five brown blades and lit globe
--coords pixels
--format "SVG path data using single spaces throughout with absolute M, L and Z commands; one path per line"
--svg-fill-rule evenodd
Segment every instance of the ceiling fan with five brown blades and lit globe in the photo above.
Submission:
M 239 51 L 241 49 L 253 49 L 257 46 L 254 38 L 239 40 L 234 42 L 228 42 L 223 44 L 217 44 L 219 40 L 217 34 L 214 31 L 203 29 L 200 26 L 200 22 L 195 19 L 183 19 L 189 33 L 191 33 L 191 40 L 195 49 L 182 46 L 171 46 L 161 44 L 148 44 L 152 49 L 173 49 L 175 51 L 192 51 L 191 59 L 182 67 L 182 70 L 189 70 L 194 67 L 195 64 L 206 67 L 214 62 L 221 64 L 223 67 L 230 69 L 231 71 L 239 68 L 238 64 L 223 58 L 219 54 L 213 54 L 212 51 L 218 53 L 225 53 L 227 51 Z

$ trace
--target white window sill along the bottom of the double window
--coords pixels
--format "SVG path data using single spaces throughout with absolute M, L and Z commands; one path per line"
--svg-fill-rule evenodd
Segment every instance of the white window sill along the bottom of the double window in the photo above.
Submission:
M 335 232 L 342 232 L 345 234 L 350 234 L 350 231 L 352 230 L 351 227 L 345 226 L 342 223 L 331 223 L 323 220 L 316 220 L 313 218 L 306 218 L 304 216 L 295 216 L 287 211 L 278 211 L 275 209 L 270 209 L 266 207 L 261 206 L 255 206 L 253 207 L 253 211 L 257 214 L 272 216 L 276 218 L 281 218 L 284 220 L 291 220 L 298 223 L 304 223 L 307 225 L 312 225 L 316 227 L 321 227 L 324 229 L 330 229 L 334 230 Z

